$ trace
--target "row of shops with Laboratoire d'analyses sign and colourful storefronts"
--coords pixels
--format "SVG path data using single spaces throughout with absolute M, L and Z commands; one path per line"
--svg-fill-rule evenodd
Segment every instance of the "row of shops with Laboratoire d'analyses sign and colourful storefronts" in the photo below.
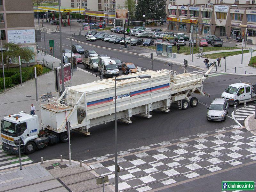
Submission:
M 167 29 L 203 35 L 236 39 L 245 36 L 256 43 L 255 5 L 204 4 L 196 6 L 172 5 L 167 7 Z

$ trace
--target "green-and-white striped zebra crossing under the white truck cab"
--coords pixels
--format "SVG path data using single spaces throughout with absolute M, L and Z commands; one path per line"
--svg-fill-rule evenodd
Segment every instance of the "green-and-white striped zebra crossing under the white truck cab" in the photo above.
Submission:
M 26 155 L 21 155 L 21 164 L 29 164 L 33 163 L 33 161 L 28 158 Z M 10 154 L 2 149 L 0 145 L 0 170 L 19 166 L 19 155 Z

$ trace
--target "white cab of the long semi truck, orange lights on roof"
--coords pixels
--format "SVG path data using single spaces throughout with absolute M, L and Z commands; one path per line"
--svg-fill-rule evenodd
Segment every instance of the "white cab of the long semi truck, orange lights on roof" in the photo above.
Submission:
M 24 144 L 20 146 L 20 152 L 30 154 L 36 149 L 36 143 L 31 141 L 38 137 L 38 133 L 37 115 L 19 113 L 6 116 L 1 121 L 2 148 L 4 151 L 19 154 L 19 148 L 14 143 L 21 138 Z

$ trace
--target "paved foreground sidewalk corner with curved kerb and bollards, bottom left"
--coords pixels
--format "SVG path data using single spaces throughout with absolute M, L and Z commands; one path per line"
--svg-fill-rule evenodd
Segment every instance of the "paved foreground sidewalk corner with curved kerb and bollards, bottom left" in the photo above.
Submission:
M 91 192 L 102 191 L 102 185 L 96 184 L 96 178 L 100 175 L 94 171 L 88 171 L 90 169 L 85 164 L 80 167 L 80 163 L 76 161 L 72 161 L 72 165 L 69 165 L 68 160 L 63 160 L 63 162 L 48 160 L 44 161 L 44 164 L 40 162 L 22 166 L 22 170 L 9 169 L 0 172 L 0 191 L 78 192 L 81 189 Z M 75 184 L 68 185 L 71 183 Z M 115 191 L 112 185 L 105 186 L 104 189 L 106 192 Z

